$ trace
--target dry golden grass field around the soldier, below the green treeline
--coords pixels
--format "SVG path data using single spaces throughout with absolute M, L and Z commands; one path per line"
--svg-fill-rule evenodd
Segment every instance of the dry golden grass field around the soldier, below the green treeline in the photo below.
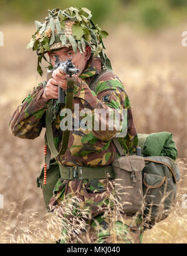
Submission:
M 157 34 L 143 34 L 119 26 L 106 41 L 113 70 L 124 82 L 130 97 L 138 132 L 172 132 L 179 150 L 178 159 L 187 155 L 187 49 L 181 46 L 181 32 L 186 27 L 185 23 Z M 1 31 L 4 47 L 0 47 L 0 194 L 4 195 L 4 209 L 0 209 L 0 243 L 52 243 L 59 236 L 60 224 L 54 215 L 44 217 L 42 192 L 36 188 L 36 177 L 44 160 L 44 131 L 32 141 L 13 137 L 8 128 L 14 109 L 36 86 L 36 58 L 32 51 L 25 49 L 34 27 L 14 24 L 2 26 Z M 187 209 L 181 207 L 184 201 L 181 194 L 186 193 L 187 184 L 185 164 L 184 159 L 180 163 L 183 180 L 175 209 L 168 219 L 145 232 L 144 243 L 187 242 Z M 51 229 L 51 223 L 57 226 L 55 230 Z

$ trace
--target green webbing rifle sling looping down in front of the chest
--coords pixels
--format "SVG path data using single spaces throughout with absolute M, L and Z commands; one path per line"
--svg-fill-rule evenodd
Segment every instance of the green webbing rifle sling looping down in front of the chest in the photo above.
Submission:
M 74 78 L 67 78 L 67 96 L 66 96 L 66 104 L 65 104 L 66 109 L 72 110 L 73 94 L 74 94 Z M 53 132 L 52 132 L 52 107 L 53 107 L 52 102 L 53 100 L 50 100 L 49 107 L 47 108 L 47 111 L 46 111 L 46 137 L 47 137 L 47 144 L 50 149 L 50 152 L 52 153 L 52 155 L 54 155 L 54 157 L 57 157 L 58 155 L 64 155 L 67 150 L 70 130 L 64 130 L 62 134 L 62 146 L 58 151 L 54 144 L 54 138 L 53 138 Z

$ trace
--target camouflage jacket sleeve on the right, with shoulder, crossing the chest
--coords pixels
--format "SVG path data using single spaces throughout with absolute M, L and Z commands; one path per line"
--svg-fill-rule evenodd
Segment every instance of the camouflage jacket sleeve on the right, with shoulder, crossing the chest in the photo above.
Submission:
M 95 92 L 85 82 L 79 81 L 75 97 L 81 99 L 84 108 L 92 111 L 87 114 L 87 120 L 90 116 L 92 122 L 87 124 L 89 123 L 90 130 L 93 130 L 93 135 L 98 139 L 108 141 L 125 129 L 125 135 L 130 132 L 132 137 L 137 136 L 127 93 L 122 82 L 112 72 L 100 78 Z

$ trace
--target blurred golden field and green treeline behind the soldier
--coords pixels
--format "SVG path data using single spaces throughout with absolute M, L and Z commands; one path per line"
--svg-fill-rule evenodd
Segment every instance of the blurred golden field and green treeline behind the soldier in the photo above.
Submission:
M 31 229 L 23 231 L 21 225 L 41 224 L 46 214 L 42 191 L 36 187 L 44 163 L 44 131 L 35 140 L 22 140 L 10 133 L 8 124 L 21 101 L 46 79 L 46 72 L 43 77 L 37 75 L 36 53 L 26 49 L 35 32 L 34 21 L 43 22 L 48 9 L 70 6 L 89 8 L 93 21 L 109 32 L 104 41 L 106 53 L 130 98 L 137 131 L 171 132 L 178 148 L 183 176 L 178 208 L 171 217 L 173 226 L 169 225 L 171 219 L 156 225 L 145 232 L 144 242 L 187 242 L 187 213 L 180 206 L 180 195 L 187 184 L 187 47 L 182 45 L 181 36 L 187 31 L 187 1 L 1 0 L 0 32 L 4 42 L 0 46 L 0 194 L 4 209 L 0 209 L 0 243 L 17 241 L 18 234 L 31 233 Z M 181 216 L 183 222 L 179 223 Z

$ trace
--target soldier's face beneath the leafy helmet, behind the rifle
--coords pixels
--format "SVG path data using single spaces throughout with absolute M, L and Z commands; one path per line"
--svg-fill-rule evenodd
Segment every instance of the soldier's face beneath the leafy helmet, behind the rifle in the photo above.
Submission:
M 59 57 L 59 61 L 67 61 L 72 59 L 73 64 L 77 69 L 80 70 L 79 75 L 84 71 L 87 61 L 90 58 L 91 48 L 89 46 L 85 47 L 85 52 L 80 53 L 79 49 L 75 53 L 72 47 L 64 47 L 58 51 L 52 51 L 49 53 L 50 63 L 52 66 L 55 65 L 56 56 Z

